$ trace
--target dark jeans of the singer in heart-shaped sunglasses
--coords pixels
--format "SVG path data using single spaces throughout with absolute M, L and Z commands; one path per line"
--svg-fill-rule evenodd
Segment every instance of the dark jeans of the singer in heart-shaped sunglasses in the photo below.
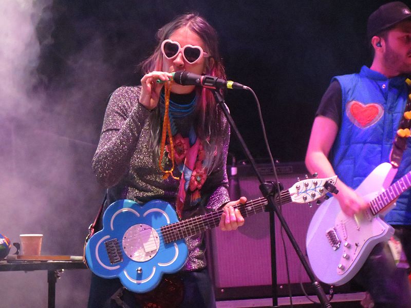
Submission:
M 184 296 L 179 308 L 216 307 L 213 283 L 207 269 L 180 274 L 184 284 Z M 141 308 L 134 295 L 121 288 L 118 278 L 105 279 L 92 274 L 88 308 Z M 118 291 L 122 291 L 122 295 L 116 302 L 112 297 Z

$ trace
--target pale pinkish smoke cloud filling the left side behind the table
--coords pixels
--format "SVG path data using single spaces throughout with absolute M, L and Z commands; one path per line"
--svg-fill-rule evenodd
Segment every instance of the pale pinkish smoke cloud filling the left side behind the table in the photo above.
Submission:
M 89 24 L 74 25 L 86 44 L 55 49 L 64 14 L 52 0 L 0 1 L 0 233 L 12 242 L 44 234 L 43 255 L 82 254 L 102 196 L 90 168 L 95 117 L 112 87 L 103 40 Z M 85 270 L 63 275 L 57 306 L 84 306 L 88 279 Z M 46 306 L 45 273 L 7 273 L 0 296 L 4 307 Z

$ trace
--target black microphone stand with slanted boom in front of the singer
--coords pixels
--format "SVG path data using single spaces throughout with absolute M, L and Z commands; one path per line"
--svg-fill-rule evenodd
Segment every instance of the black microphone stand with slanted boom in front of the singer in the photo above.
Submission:
M 256 177 L 258 178 L 258 181 L 260 182 L 259 189 L 261 191 L 261 194 L 268 200 L 269 204 L 269 213 L 270 213 L 270 239 L 271 239 L 271 274 L 272 274 L 272 303 L 274 307 L 278 306 L 278 295 L 277 295 L 277 271 L 276 271 L 276 259 L 275 259 L 275 229 L 274 229 L 274 212 L 278 217 L 278 220 L 281 222 L 281 225 L 283 226 L 292 246 L 294 247 L 295 252 L 298 255 L 298 258 L 300 258 L 300 261 L 302 265 L 304 266 L 304 269 L 310 278 L 310 281 L 312 285 L 314 286 L 315 292 L 317 297 L 319 298 L 321 305 L 326 308 L 331 308 L 331 304 L 329 300 L 327 299 L 324 290 L 321 286 L 321 284 L 316 281 L 314 273 L 312 272 L 312 269 L 308 265 L 308 262 L 306 258 L 304 257 L 300 247 L 298 247 L 298 244 L 294 238 L 294 236 L 291 233 L 290 228 L 288 227 L 288 224 L 286 220 L 284 219 L 283 214 L 281 211 L 278 209 L 278 207 L 275 204 L 275 197 L 278 196 L 279 191 L 275 191 L 275 194 L 273 194 L 273 190 L 275 189 L 276 185 L 273 185 L 273 183 L 270 182 L 265 182 L 264 178 L 261 176 L 260 172 L 258 171 L 257 165 L 254 161 L 254 158 L 252 157 L 246 143 L 244 142 L 244 139 L 242 139 L 240 132 L 237 129 L 237 126 L 234 123 L 233 118 L 230 115 L 230 112 L 227 108 L 227 105 L 225 103 L 224 98 L 222 97 L 219 89 L 210 89 L 213 92 L 214 98 L 218 104 L 218 106 L 221 108 L 222 112 L 226 115 L 227 121 L 230 123 L 231 130 L 235 132 L 235 135 L 238 139 L 238 141 L 241 144 L 242 150 L 244 151 L 245 155 L 247 156 L 248 160 L 250 161 L 253 170 L 255 172 Z M 275 196 L 273 196 L 275 195 Z

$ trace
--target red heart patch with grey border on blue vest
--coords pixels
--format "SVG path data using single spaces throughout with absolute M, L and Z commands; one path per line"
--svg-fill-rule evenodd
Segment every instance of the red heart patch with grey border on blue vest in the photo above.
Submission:
M 381 119 L 384 108 L 376 103 L 364 105 L 358 101 L 351 101 L 347 104 L 346 114 L 352 123 L 360 128 L 366 128 Z

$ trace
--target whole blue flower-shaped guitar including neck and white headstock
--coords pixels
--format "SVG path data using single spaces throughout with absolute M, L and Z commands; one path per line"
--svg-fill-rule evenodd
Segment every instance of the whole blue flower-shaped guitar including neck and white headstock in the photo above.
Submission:
M 280 192 L 282 203 L 307 203 L 324 196 L 337 176 L 306 179 Z M 277 198 L 277 201 L 279 198 Z M 265 198 L 235 207 L 244 217 L 266 209 Z M 167 202 L 153 200 L 139 205 L 119 200 L 107 207 L 103 229 L 85 246 L 85 258 L 93 273 L 103 278 L 120 278 L 132 292 L 153 290 L 165 273 L 178 272 L 188 257 L 184 238 L 218 226 L 223 209 L 179 221 Z

